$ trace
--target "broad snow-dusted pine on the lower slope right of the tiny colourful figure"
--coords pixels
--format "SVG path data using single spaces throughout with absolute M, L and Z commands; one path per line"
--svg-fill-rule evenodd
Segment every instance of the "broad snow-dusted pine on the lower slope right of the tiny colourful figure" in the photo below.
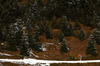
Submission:
M 87 46 L 87 49 L 86 49 L 86 54 L 90 54 L 90 55 L 93 55 L 93 56 L 97 56 L 97 49 L 96 49 L 96 46 L 95 46 L 95 41 L 93 40 L 89 40 L 89 43 L 88 43 L 88 46 Z

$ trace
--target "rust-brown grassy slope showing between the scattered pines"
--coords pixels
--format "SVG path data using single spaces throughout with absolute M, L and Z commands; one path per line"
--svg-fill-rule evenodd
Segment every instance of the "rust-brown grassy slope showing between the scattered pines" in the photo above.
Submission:
M 87 35 L 87 33 L 90 31 L 90 27 L 86 27 L 83 26 L 81 24 L 81 27 L 84 28 L 85 33 Z M 93 32 L 93 30 L 91 30 Z M 54 29 L 53 33 L 54 35 L 59 33 L 60 30 L 59 29 Z M 54 45 L 49 45 L 47 47 L 47 51 L 45 52 L 36 52 L 33 51 L 34 54 L 38 55 L 39 58 L 37 59 L 46 59 L 46 60 L 73 60 L 70 58 L 70 56 L 72 57 L 76 57 L 76 60 L 79 59 L 78 55 L 82 55 L 84 57 L 84 59 L 99 59 L 100 58 L 100 46 L 97 45 L 97 50 L 98 50 L 98 56 L 97 57 L 92 57 L 89 55 L 86 55 L 86 48 L 87 48 L 87 42 L 86 41 L 80 41 L 77 37 L 65 37 L 69 42 L 69 46 L 72 48 L 70 49 L 70 51 L 68 53 L 61 53 L 60 52 L 60 47 L 61 44 L 54 44 Z M 46 39 L 44 36 L 40 37 L 41 42 L 50 42 L 50 43 L 54 43 L 54 39 Z M 2 57 L 2 58 L 22 58 L 19 57 L 19 52 L 11 52 L 8 50 L 3 50 L 2 52 L 4 53 L 8 53 L 8 54 L 12 54 L 12 55 L 16 55 L 15 57 Z M 45 56 L 44 56 L 45 55 Z M 0 57 L 1 58 L 1 57 Z M 33 57 L 35 58 L 35 57 Z

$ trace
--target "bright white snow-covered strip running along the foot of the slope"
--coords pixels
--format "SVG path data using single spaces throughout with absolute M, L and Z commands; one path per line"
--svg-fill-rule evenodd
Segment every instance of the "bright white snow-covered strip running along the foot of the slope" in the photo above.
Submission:
M 100 60 L 83 60 L 83 61 L 50 61 L 37 59 L 0 59 L 0 62 L 11 62 L 16 64 L 30 64 L 37 66 L 50 66 L 52 63 L 99 63 Z

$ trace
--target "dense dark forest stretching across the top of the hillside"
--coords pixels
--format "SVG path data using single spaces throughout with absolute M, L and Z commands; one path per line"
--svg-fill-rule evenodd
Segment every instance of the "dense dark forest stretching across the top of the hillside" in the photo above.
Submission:
M 33 20 L 52 19 L 53 16 L 64 15 L 68 20 L 79 20 L 85 25 L 94 26 L 100 15 L 99 0 L 29 0 L 24 5 L 20 2 L 21 0 L 0 0 L 0 22 L 15 22 L 16 18 L 22 18 L 26 12 L 30 13 L 27 17 L 32 16 L 32 12 Z

